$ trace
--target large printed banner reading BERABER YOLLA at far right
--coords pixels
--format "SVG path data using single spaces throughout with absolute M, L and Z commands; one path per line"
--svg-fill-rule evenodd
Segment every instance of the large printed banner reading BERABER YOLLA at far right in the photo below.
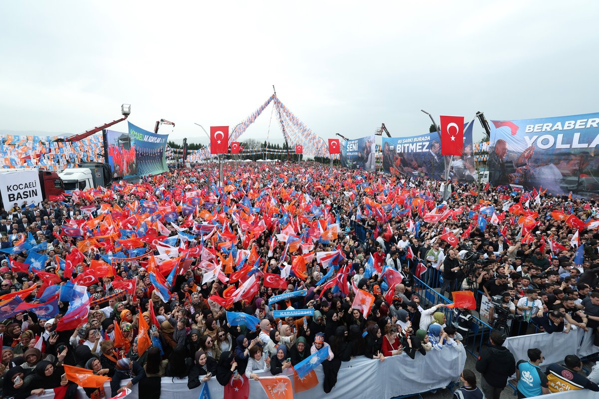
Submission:
M 599 197 L 599 113 L 491 122 L 491 184 Z

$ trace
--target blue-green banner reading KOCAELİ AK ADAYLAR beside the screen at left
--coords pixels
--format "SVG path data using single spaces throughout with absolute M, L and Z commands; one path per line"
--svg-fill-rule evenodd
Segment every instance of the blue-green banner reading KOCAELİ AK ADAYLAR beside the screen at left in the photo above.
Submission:
M 129 139 L 135 147 L 137 174 L 156 175 L 168 170 L 166 151 L 168 135 L 155 135 L 129 122 Z

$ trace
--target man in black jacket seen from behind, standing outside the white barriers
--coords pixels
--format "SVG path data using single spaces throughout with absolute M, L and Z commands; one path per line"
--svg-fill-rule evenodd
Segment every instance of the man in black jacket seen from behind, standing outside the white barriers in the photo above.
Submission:
M 507 379 L 516 372 L 514 355 L 502 346 L 505 340 L 506 336 L 501 331 L 492 331 L 490 344 L 483 347 L 476 362 L 476 371 L 483 376 L 480 388 L 488 399 L 499 399 Z

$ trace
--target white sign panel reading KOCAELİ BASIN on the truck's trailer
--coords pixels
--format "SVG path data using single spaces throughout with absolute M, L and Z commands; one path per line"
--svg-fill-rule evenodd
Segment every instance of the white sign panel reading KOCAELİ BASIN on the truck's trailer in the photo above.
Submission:
M 23 206 L 28 204 L 40 203 L 43 200 L 40 187 L 40 176 L 37 170 L 11 170 L 0 173 L 0 194 L 5 209 L 12 208 L 16 202 Z

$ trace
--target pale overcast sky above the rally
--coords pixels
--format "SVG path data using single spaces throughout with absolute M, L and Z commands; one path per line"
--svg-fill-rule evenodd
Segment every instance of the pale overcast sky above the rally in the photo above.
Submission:
M 3 1 L 0 133 L 119 118 L 207 142 L 273 92 L 323 138 L 597 109 L 598 2 Z M 595 48 L 595 50 L 593 50 Z M 244 135 L 264 140 L 271 106 Z M 115 130 L 126 131 L 121 123 Z M 476 124 L 475 132 L 480 132 Z M 273 117 L 270 138 L 282 134 Z M 198 141 L 193 140 L 193 141 Z

